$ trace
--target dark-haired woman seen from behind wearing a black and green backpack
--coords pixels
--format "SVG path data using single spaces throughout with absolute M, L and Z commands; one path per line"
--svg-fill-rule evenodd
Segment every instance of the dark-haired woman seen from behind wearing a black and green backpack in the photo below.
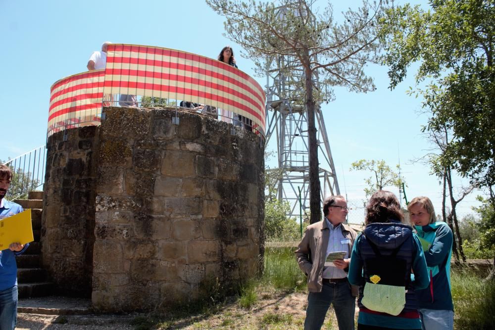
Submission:
M 358 330 L 421 329 L 414 290 L 428 286 L 428 272 L 421 243 L 403 219 L 392 192 L 371 196 L 348 275 L 350 284 L 359 285 Z

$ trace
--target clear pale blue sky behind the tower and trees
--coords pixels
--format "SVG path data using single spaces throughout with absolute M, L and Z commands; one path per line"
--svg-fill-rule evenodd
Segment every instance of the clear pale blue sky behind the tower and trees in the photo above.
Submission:
M 342 10 L 360 3 L 332 2 L 337 20 Z M 319 3 L 323 9 L 325 2 Z M 0 0 L 0 31 L 4 118 L 0 159 L 45 144 L 51 84 L 86 71 L 89 56 L 104 41 L 175 48 L 213 58 L 222 47 L 232 45 L 239 68 L 254 76 L 252 61 L 241 57 L 239 46 L 222 36 L 223 18 L 200 0 Z M 439 213 L 441 186 L 429 175 L 428 166 L 411 163 L 430 148 L 420 132 L 426 123 L 419 114 L 420 99 L 405 94 L 413 80 L 409 77 L 390 91 L 387 68 L 372 66 L 366 72 L 374 77 L 377 91 L 355 94 L 338 88 L 336 100 L 322 106 L 341 192 L 347 192 L 349 200 L 364 198 L 364 179 L 369 174 L 349 171 L 350 163 L 364 158 L 395 165 L 400 152 L 408 198 L 427 195 Z M 256 79 L 264 86 L 264 78 Z M 460 184 L 460 180 L 455 183 Z M 477 205 L 475 196 L 458 205 L 460 214 L 471 213 L 470 207 Z

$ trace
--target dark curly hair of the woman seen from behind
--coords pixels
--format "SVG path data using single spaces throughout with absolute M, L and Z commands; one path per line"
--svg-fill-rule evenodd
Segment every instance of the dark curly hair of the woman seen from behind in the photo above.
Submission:
M 404 220 L 399 201 L 395 194 L 386 190 L 375 192 L 366 205 L 366 225 L 374 222 L 390 222 L 390 219 Z

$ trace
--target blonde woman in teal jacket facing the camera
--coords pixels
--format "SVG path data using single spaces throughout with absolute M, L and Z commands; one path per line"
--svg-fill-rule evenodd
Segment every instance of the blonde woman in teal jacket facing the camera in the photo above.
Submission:
M 445 222 L 436 222 L 428 197 L 415 197 L 407 205 L 412 225 L 420 237 L 430 275 L 430 285 L 416 291 L 424 330 L 452 330 L 454 306 L 450 292 L 452 231 Z

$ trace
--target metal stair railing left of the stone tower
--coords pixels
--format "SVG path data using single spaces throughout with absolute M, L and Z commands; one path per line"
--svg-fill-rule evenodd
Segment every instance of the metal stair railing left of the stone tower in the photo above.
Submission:
M 5 162 L 4 165 L 10 167 L 13 174 L 6 194 L 8 200 L 26 198 L 29 191 L 43 186 L 46 154 L 46 145 L 42 145 Z

